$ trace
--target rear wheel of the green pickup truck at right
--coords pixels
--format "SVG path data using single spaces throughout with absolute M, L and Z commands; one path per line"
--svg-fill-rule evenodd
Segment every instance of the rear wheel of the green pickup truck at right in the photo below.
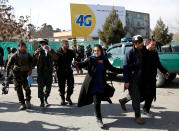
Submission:
M 165 84 L 165 77 L 164 74 L 162 72 L 160 72 L 159 70 L 157 70 L 157 76 L 156 76 L 156 86 L 157 87 L 162 87 Z

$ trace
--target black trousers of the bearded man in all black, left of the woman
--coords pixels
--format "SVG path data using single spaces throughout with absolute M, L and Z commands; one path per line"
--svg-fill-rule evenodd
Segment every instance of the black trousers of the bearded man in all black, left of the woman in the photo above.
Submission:
M 70 98 L 73 94 L 74 89 L 74 76 L 73 72 L 57 72 L 58 77 L 58 85 L 59 85 L 59 92 L 60 96 L 64 97 L 65 95 L 65 85 L 67 83 L 67 97 Z

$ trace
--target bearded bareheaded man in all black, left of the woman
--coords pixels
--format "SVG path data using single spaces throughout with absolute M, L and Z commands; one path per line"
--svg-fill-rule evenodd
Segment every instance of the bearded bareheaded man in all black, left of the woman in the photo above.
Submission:
M 61 96 L 61 105 L 66 105 L 65 102 L 65 84 L 67 81 L 67 96 L 66 101 L 69 105 L 72 105 L 71 95 L 73 94 L 74 88 L 74 77 L 73 70 L 71 68 L 72 61 L 75 58 L 73 50 L 69 49 L 69 44 L 67 40 L 62 41 L 62 47 L 57 51 L 58 61 L 56 64 L 57 68 L 57 77 L 59 84 L 59 92 Z

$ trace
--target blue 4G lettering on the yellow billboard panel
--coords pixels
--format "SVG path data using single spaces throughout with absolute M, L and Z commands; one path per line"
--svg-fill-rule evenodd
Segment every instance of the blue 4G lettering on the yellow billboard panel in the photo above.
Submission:
M 79 24 L 80 27 L 90 27 L 92 26 L 92 15 L 79 15 L 75 23 Z

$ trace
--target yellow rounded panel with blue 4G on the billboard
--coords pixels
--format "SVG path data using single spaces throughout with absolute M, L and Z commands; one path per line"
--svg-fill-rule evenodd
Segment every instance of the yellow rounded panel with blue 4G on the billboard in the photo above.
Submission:
M 73 37 L 87 37 L 96 25 L 94 12 L 87 5 L 71 4 L 71 27 Z

